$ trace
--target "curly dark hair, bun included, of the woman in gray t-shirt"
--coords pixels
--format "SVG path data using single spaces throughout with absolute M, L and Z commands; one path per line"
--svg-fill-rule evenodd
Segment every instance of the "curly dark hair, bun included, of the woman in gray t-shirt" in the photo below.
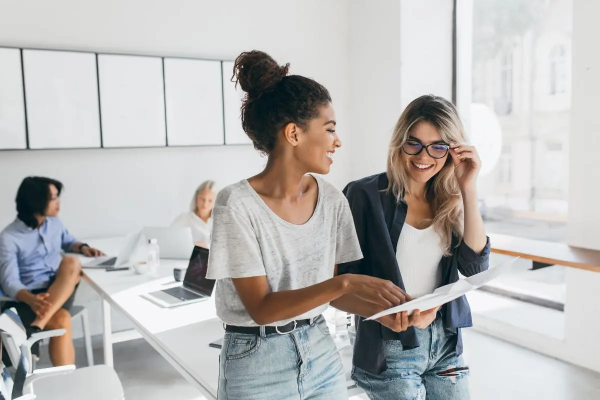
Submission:
M 246 95 L 242 101 L 242 128 L 254 148 L 271 154 L 277 133 L 290 122 L 306 128 L 331 102 L 329 91 L 313 79 L 288 75 L 290 64 L 280 66 L 265 52 L 241 53 L 233 65 L 232 82 Z

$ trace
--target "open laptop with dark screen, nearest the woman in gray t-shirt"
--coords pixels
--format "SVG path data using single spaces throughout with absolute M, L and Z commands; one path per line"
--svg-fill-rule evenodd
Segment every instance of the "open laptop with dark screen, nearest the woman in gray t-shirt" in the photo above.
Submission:
M 141 296 L 166 308 L 207 300 L 215 287 L 214 279 L 206 278 L 208 249 L 194 246 L 184 281 L 174 287 L 144 293 Z

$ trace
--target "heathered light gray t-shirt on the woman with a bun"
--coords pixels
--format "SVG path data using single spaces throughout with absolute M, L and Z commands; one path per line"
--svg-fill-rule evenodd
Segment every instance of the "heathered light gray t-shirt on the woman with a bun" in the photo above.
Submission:
M 245 179 L 218 193 L 212 210 L 207 277 L 217 279 L 215 303 L 223 323 L 257 326 L 231 278 L 266 275 L 272 291 L 293 290 L 332 278 L 335 264 L 362 258 L 346 197 L 324 179 L 315 179 L 319 186 L 317 206 L 302 225 L 284 221 L 272 212 Z M 316 317 L 327 306 L 293 319 Z

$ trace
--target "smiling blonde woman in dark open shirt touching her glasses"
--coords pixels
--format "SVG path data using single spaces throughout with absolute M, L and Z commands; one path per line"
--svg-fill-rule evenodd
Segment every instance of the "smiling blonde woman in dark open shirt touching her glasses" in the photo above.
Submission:
M 488 268 L 490 241 L 476 190 L 481 160 L 465 142 L 448 100 L 425 95 L 406 107 L 387 172 L 344 189 L 364 258 L 340 265 L 340 273 L 389 279 L 414 298 L 457 281 L 459 272 Z M 464 296 L 415 311 L 395 327 L 366 316 L 356 317 L 352 376 L 371 399 L 469 398 L 461 328 L 472 321 Z

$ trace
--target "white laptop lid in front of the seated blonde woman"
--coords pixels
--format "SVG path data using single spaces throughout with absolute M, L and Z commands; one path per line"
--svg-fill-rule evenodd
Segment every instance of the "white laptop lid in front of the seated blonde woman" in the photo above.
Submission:
M 145 227 L 142 230 L 146 242 L 156 239 L 160 258 L 189 260 L 194 249 L 190 227 Z

